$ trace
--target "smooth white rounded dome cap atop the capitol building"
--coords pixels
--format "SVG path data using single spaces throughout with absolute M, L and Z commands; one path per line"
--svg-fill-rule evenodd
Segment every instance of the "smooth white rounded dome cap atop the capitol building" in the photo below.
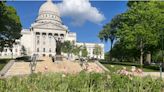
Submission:
M 47 0 L 39 9 L 39 15 L 43 13 L 51 13 L 57 16 L 60 16 L 59 10 L 55 4 L 51 0 Z

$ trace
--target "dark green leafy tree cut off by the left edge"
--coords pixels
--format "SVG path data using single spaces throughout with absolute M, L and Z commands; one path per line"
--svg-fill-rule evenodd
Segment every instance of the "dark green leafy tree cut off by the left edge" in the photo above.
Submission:
M 4 47 L 12 48 L 16 39 L 21 37 L 21 22 L 16 10 L 0 1 L 0 51 Z

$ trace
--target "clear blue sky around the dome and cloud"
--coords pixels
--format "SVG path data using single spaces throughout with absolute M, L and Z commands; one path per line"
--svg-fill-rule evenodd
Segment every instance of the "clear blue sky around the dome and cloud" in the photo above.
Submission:
M 29 28 L 35 21 L 38 15 L 40 6 L 45 1 L 9 1 L 8 5 L 15 7 L 18 15 L 20 16 L 23 28 Z M 54 3 L 60 4 L 61 1 Z M 85 20 L 81 25 L 73 25 L 72 18 L 70 16 L 62 16 L 63 23 L 68 26 L 71 32 L 77 33 L 77 40 L 79 42 L 101 42 L 97 37 L 99 31 L 102 30 L 103 25 L 110 22 L 111 19 L 127 10 L 126 1 L 91 1 L 89 2 L 92 7 L 95 7 L 99 13 L 101 13 L 105 19 L 100 23 L 94 23 L 93 21 Z M 104 43 L 105 51 L 110 49 L 110 42 Z

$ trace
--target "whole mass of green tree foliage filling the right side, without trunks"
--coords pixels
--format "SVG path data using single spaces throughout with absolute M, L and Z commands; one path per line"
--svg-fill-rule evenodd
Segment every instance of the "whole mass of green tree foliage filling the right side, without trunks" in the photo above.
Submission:
M 128 2 L 128 10 L 115 16 L 105 27 L 115 30 L 117 37 L 112 57 L 137 60 L 139 54 L 143 57 L 147 52 L 155 53 L 161 49 L 161 43 L 164 43 L 161 40 L 161 35 L 164 35 L 161 32 L 164 29 L 163 5 L 164 2 L 156 1 Z M 100 33 L 109 35 L 107 31 Z

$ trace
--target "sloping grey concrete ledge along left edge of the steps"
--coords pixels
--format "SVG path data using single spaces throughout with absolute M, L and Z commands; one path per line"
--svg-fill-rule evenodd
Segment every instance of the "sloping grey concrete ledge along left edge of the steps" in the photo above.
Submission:
M 4 76 L 7 71 L 11 68 L 11 66 L 14 64 L 15 60 L 10 60 L 0 71 L 0 76 Z

